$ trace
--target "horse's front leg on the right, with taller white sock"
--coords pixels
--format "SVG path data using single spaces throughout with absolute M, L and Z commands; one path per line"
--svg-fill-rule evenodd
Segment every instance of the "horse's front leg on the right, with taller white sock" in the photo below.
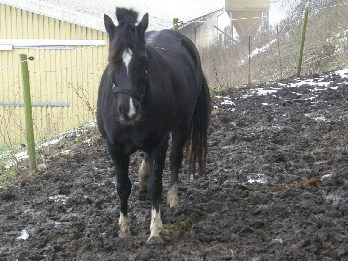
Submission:
M 149 153 L 150 177 L 147 185 L 151 200 L 150 237 L 147 244 L 164 244 L 161 237 L 163 229 L 159 203 L 163 191 L 162 173 L 168 148 L 169 133 L 164 135 L 160 143 Z

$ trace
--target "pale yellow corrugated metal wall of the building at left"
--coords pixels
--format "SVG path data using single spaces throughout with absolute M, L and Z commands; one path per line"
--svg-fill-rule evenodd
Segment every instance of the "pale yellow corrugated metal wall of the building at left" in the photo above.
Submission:
M 105 40 L 105 32 L 0 4 L 0 38 Z M 76 49 L 86 46 L 75 46 Z M 0 50 L 0 68 L 28 61 L 32 102 L 70 102 L 69 107 L 33 107 L 35 139 L 60 133 L 95 118 L 99 81 L 108 45 L 68 50 Z M 51 55 L 51 56 L 47 56 Z M 41 56 L 46 56 L 39 58 Z M 20 64 L 0 70 L 0 103 L 23 102 Z M 26 141 L 23 107 L 0 106 L 0 145 Z

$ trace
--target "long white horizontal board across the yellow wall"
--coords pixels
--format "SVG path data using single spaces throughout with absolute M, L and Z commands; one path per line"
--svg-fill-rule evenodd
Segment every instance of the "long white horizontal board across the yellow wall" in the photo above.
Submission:
M 1 45 L 105 45 L 105 40 L 68 40 L 68 39 L 0 39 Z

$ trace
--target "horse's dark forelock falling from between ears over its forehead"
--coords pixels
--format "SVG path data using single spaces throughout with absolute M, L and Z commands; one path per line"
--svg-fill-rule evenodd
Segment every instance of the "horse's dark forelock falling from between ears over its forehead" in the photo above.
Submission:
M 138 12 L 133 9 L 117 8 L 116 18 L 118 21 L 117 32 L 114 39 L 112 39 L 108 58 L 113 66 L 120 62 L 124 50 L 133 50 L 136 45 L 135 23 L 138 19 Z

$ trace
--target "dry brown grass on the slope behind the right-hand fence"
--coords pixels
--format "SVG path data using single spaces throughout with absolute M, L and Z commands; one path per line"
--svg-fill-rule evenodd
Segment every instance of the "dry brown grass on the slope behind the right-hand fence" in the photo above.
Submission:
M 339 2 L 339 1 L 337 1 Z M 348 5 L 312 11 L 308 16 L 301 74 L 314 74 L 346 67 Z M 286 18 L 278 25 L 278 52 L 276 26 L 266 32 L 259 31 L 251 38 L 250 81 L 255 84 L 280 79 L 280 60 L 283 78 L 293 77 L 296 72 L 301 39 L 303 14 Z M 248 83 L 248 41 L 232 46 L 212 43 L 200 50 L 203 71 L 212 92 L 223 94 L 232 86 Z

